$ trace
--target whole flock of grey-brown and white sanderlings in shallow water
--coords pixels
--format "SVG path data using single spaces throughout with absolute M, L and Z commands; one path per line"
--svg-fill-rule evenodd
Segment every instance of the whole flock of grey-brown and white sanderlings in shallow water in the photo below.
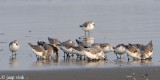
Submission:
M 92 21 L 88 21 L 80 25 L 80 27 L 84 30 L 86 37 L 90 36 L 90 31 L 94 29 L 95 24 Z M 121 59 L 121 55 L 126 54 L 128 60 L 130 60 L 130 58 L 133 58 L 133 60 L 152 59 L 153 55 L 152 40 L 146 45 L 139 43 L 128 43 L 118 44 L 115 47 L 109 43 L 93 43 L 92 45 L 88 46 L 83 41 L 78 39 L 75 40 L 76 44 L 72 40 L 60 42 L 58 39 L 50 37 L 48 37 L 48 41 L 49 43 L 38 41 L 36 45 L 28 43 L 37 59 L 52 60 L 54 53 L 58 59 L 60 50 L 64 52 L 63 57 L 71 57 L 76 55 L 77 59 L 88 59 L 94 61 L 100 59 L 105 60 L 107 58 L 107 53 L 110 52 L 115 53 L 117 59 Z M 12 56 L 16 56 L 16 51 L 18 49 L 19 44 L 17 40 L 14 40 L 9 44 L 9 50 L 12 52 Z M 13 54 L 13 52 L 15 52 L 15 54 Z

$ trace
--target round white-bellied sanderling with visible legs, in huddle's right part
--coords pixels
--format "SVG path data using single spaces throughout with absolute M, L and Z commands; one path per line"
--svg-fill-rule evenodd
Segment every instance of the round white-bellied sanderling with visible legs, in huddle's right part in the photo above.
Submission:
M 121 59 L 121 55 L 124 54 L 125 51 L 126 51 L 126 49 L 125 49 L 125 45 L 124 44 L 118 44 L 114 49 L 114 53 L 116 54 L 118 59 Z M 120 57 L 118 57 L 117 54 L 119 54 Z

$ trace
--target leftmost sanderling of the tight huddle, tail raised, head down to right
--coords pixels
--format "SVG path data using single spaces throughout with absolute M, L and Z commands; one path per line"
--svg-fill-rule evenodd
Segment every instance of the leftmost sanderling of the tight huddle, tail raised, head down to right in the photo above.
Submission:
M 33 53 L 36 54 L 36 56 L 43 57 L 43 59 L 47 59 L 47 54 L 42 46 L 33 45 L 31 43 L 28 43 L 30 47 L 32 48 Z

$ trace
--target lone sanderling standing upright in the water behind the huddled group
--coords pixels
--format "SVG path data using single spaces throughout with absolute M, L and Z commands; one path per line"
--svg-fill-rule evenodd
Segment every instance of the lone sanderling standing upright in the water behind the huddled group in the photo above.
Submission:
M 90 35 L 90 31 L 94 29 L 95 24 L 93 21 L 88 21 L 85 22 L 83 25 L 80 25 L 81 28 L 83 28 L 83 30 L 85 31 L 85 36 L 86 36 L 86 32 L 88 32 L 88 35 Z

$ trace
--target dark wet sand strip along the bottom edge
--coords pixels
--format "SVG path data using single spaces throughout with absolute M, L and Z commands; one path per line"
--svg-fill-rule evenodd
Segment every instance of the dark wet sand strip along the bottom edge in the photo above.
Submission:
M 1 71 L 0 76 L 25 80 L 159 80 L 160 67 L 117 67 L 62 70 Z M 22 79 L 19 79 L 22 80 Z

